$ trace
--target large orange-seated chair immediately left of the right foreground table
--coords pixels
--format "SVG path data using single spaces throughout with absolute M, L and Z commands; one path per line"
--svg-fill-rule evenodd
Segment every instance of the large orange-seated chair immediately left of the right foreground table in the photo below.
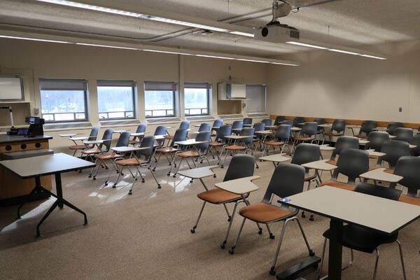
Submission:
M 291 195 L 296 195 L 302 193 L 303 191 L 303 182 L 304 182 L 304 168 L 300 165 L 293 165 L 291 163 L 281 163 L 279 164 L 272 175 L 272 179 L 269 181 L 267 190 L 265 191 L 262 201 L 242 207 L 239 209 L 239 215 L 244 217 L 239 228 L 235 244 L 230 248 L 229 253 L 233 255 L 235 253 L 235 248 L 237 247 L 239 237 L 241 235 L 242 229 L 246 220 L 253 221 L 255 223 L 262 223 L 267 226 L 269 232 L 269 238 L 274 239 L 274 235 L 269 229 L 269 224 L 284 222 L 283 228 L 281 230 L 281 235 L 279 238 L 279 244 L 276 248 L 276 253 L 274 254 L 274 261 L 272 267 L 269 269 L 269 274 L 276 274 L 276 262 L 279 256 L 279 251 L 281 248 L 281 243 L 283 242 L 284 232 L 290 221 L 297 221 L 299 225 L 300 232 L 309 251 L 309 255 L 314 255 L 307 237 L 304 234 L 302 225 L 300 224 L 299 219 L 297 218 L 297 213 L 299 209 L 293 209 L 287 205 L 275 205 L 273 200 L 276 198 L 290 197 Z

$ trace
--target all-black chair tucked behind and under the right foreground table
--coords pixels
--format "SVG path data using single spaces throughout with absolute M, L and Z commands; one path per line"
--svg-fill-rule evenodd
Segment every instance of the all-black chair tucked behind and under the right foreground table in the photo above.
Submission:
M 387 200 L 398 200 L 401 194 L 400 190 L 384 188 L 382 186 L 375 186 L 368 183 L 358 184 L 358 186 L 356 186 L 355 188 L 355 191 L 358 193 L 364 193 L 365 195 L 374 195 L 377 197 L 382 197 Z M 349 264 L 344 266 L 342 269 L 346 269 L 347 267 L 353 264 L 353 250 L 365 252 L 365 253 L 376 252 L 376 260 L 374 262 L 374 271 L 373 271 L 373 279 L 376 279 L 378 261 L 379 261 L 378 246 L 380 246 L 381 244 L 388 244 L 388 243 L 396 242 L 398 244 L 398 248 L 400 249 L 402 275 L 405 280 L 407 279 L 405 275 L 404 259 L 402 258 L 402 248 L 401 248 L 400 241 L 398 241 L 398 232 L 395 233 L 394 235 L 386 235 L 384 233 L 377 232 L 375 230 L 363 228 L 359 225 L 344 225 L 342 234 L 343 234 L 342 246 L 349 248 L 351 250 L 351 260 Z M 321 260 L 321 266 L 319 267 L 318 279 L 321 278 L 327 239 L 330 239 L 330 230 L 325 231 L 323 233 L 323 236 L 325 237 L 325 241 L 323 245 L 322 260 Z

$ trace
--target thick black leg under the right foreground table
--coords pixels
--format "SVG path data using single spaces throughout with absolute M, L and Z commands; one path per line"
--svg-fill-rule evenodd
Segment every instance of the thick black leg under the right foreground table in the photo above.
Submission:
M 343 223 L 331 219 L 330 221 L 330 251 L 328 253 L 328 279 L 341 279 L 342 272 L 342 238 Z

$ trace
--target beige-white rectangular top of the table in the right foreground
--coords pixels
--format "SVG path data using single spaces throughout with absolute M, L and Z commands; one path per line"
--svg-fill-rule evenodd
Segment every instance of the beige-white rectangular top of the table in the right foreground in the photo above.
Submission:
M 420 217 L 418 206 L 330 186 L 314 188 L 288 199 L 289 202 L 282 203 L 390 235 Z

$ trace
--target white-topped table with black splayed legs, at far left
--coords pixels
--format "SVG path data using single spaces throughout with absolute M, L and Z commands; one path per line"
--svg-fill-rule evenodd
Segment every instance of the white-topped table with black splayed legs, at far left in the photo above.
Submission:
M 29 201 L 29 198 L 32 195 L 34 195 L 34 193 L 39 191 L 46 192 L 52 195 L 53 197 L 57 198 L 57 200 L 54 202 L 54 204 L 52 204 L 50 209 L 48 209 L 47 213 L 43 216 L 43 218 L 41 218 L 41 221 L 38 223 L 38 225 L 36 225 L 37 237 L 41 235 L 39 227 L 41 226 L 43 221 L 45 221 L 45 219 L 48 218 L 48 216 L 50 216 L 51 212 L 56 207 L 63 208 L 64 205 L 78 211 L 80 214 L 83 214 L 85 218 L 84 224 L 87 225 L 87 216 L 85 212 L 81 211 L 70 202 L 64 200 L 61 174 L 64 172 L 94 167 L 93 162 L 80 160 L 80 158 L 75 158 L 71 155 L 66 155 L 65 153 L 55 153 L 53 155 L 40 155 L 38 157 L 33 158 L 3 160 L 0 161 L 0 165 L 3 165 L 3 167 L 5 167 L 7 170 L 20 176 L 20 178 L 22 179 L 35 178 L 35 188 L 31 191 L 31 193 L 29 193 L 27 201 Z M 49 190 L 41 186 L 41 176 L 51 174 L 55 175 L 55 188 L 57 190 L 57 195 L 51 193 Z M 19 186 L 16 187 L 18 188 Z M 20 207 L 18 207 L 18 218 L 20 218 L 20 209 L 24 204 L 25 202 L 20 204 Z

